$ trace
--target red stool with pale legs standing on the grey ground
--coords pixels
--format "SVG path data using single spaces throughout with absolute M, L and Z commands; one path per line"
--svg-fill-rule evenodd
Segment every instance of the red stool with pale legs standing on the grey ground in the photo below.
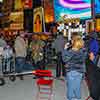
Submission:
M 36 84 L 38 86 L 37 100 L 51 100 L 53 79 L 50 70 L 36 70 L 33 74 L 39 76 Z

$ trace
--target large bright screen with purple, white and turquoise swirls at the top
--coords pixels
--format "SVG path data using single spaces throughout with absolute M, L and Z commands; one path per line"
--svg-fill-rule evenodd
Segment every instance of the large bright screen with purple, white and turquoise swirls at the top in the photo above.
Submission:
M 91 0 L 54 0 L 55 20 L 67 18 L 91 18 Z

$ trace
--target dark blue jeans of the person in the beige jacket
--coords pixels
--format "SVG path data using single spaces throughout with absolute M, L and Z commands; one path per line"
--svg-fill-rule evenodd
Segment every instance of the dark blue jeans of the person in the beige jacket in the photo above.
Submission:
M 21 73 L 23 71 L 25 65 L 25 58 L 24 57 L 16 57 L 16 72 Z

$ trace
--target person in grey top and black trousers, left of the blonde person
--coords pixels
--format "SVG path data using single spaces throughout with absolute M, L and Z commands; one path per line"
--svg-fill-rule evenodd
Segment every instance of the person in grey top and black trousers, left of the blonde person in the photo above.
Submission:
M 63 36 L 63 33 L 59 32 L 59 35 L 57 36 L 57 38 L 52 44 L 52 47 L 56 50 L 56 53 L 57 53 L 56 77 L 60 77 L 61 72 L 62 72 L 62 76 L 65 75 L 64 65 L 62 61 L 62 51 L 63 51 L 65 43 L 66 41 Z

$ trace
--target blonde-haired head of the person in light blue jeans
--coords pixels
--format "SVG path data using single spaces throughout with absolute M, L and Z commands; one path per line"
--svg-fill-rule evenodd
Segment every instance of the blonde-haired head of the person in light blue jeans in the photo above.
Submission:
M 83 47 L 84 47 L 84 41 L 81 38 L 81 36 L 79 35 L 74 36 L 72 39 L 72 48 L 80 50 Z

